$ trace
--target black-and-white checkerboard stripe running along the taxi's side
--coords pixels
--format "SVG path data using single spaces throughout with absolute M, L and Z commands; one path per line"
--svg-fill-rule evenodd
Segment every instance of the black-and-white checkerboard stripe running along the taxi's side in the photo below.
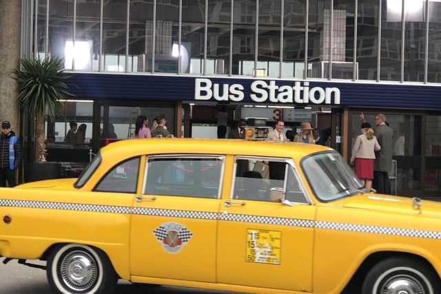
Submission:
M 231 222 L 251 222 L 258 224 L 276 224 L 291 227 L 309 227 L 316 229 L 329 229 L 336 231 L 356 231 L 360 233 L 376 233 L 380 235 L 398 235 L 404 237 L 441 239 L 441 232 L 418 229 L 402 229 L 396 227 L 369 226 L 365 224 L 349 224 L 344 222 L 325 222 L 315 220 L 302 220 L 296 218 L 277 218 L 269 216 L 251 216 L 236 213 L 217 213 L 207 211 L 184 211 L 177 209 L 151 209 L 141 207 L 121 207 L 99 204 L 81 204 L 33 200 L 8 200 L 0 199 L 0 206 L 23 207 L 37 209 L 58 209 L 71 211 L 92 211 L 103 213 L 137 214 L 144 216 L 163 216 L 170 218 L 191 218 L 200 220 L 225 220 Z

